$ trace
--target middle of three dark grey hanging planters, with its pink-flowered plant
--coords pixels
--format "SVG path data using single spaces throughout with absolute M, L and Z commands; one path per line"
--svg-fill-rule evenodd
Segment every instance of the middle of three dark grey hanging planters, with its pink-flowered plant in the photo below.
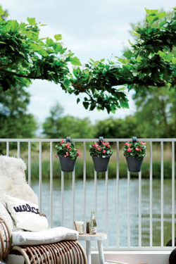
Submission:
M 108 163 L 113 151 L 109 142 L 103 141 L 103 137 L 99 137 L 99 143 L 90 145 L 90 156 L 94 161 L 94 169 L 96 172 L 106 172 L 108 170 Z

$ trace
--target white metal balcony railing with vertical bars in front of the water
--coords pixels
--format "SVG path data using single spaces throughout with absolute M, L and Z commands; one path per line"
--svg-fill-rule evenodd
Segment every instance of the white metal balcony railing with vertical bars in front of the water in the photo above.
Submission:
M 31 155 L 32 155 L 32 148 L 31 144 L 32 142 L 39 142 L 39 208 L 40 210 L 44 210 L 42 208 L 42 143 L 43 142 L 49 142 L 50 144 L 50 222 L 51 226 L 53 225 L 53 214 L 54 214 L 54 203 L 61 202 L 61 225 L 64 225 L 65 215 L 64 215 L 64 172 L 61 172 L 61 201 L 54 201 L 53 202 L 53 156 L 54 156 L 54 143 L 59 142 L 62 139 L 0 139 L 0 144 L 2 142 L 6 143 L 6 155 L 9 156 L 9 142 L 16 142 L 17 143 L 17 156 L 20 158 L 20 143 L 21 142 L 27 142 L 28 143 L 28 183 L 31 185 L 32 180 L 32 173 L 31 173 L 31 167 L 32 167 L 32 161 L 31 161 Z M 86 142 L 96 142 L 99 141 L 99 139 L 71 139 L 73 142 L 82 142 L 83 144 L 83 220 L 84 225 L 86 225 L 87 220 L 87 214 L 86 214 L 86 208 L 87 208 L 87 178 L 86 178 L 86 153 L 87 153 L 87 146 Z M 175 141 L 176 139 L 138 139 L 139 141 L 145 141 L 149 142 L 149 149 L 148 149 L 148 156 L 149 156 L 149 246 L 142 246 L 142 172 L 139 172 L 139 182 L 138 182 L 138 246 L 131 246 L 131 230 L 130 230 L 130 172 L 127 171 L 127 207 L 124 208 L 124 210 L 127 210 L 127 246 L 120 246 L 120 239 L 119 234 L 120 232 L 123 232 L 123 230 L 120 230 L 119 227 L 119 208 L 120 208 L 120 201 L 119 199 L 119 191 L 120 191 L 120 175 L 119 175 L 119 144 L 120 142 L 126 142 L 130 141 L 131 139 L 106 139 L 108 142 L 116 142 L 116 151 L 117 151 L 117 165 L 116 165 L 116 191 L 115 191 L 115 208 L 116 208 L 116 219 L 115 219 L 115 225 L 113 226 L 113 232 L 116 233 L 116 244 L 115 246 L 111 247 L 108 246 L 108 241 L 106 241 L 106 249 L 108 250 L 127 250 L 127 249 L 135 249 L 135 250 L 166 250 L 166 249 L 172 249 L 175 246 Z M 161 245 L 160 246 L 153 246 L 153 172 L 152 172 L 152 143 L 153 142 L 159 142 L 161 144 L 161 194 L 160 194 L 160 206 L 161 206 L 161 227 L 160 227 L 160 239 L 161 239 Z M 164 245 L 164 173 L 163 173 L 163 143 L 164 142 L 170 142 L 172 146 L 172 178 L 170 181 L 172 181 L 170 192 L 172 193 L 172 247 L 166 247 Z M 105 213 L 102 215 L 102 218 L 105 219 L 105 228 L 104 232 L 108 234 L 108 220 L 111 217 L 111 215 L 108 215 L 108 207 L 110 205 L 108 204 L 108 171 L 105 175 Z M 97 211 L 97 172 L 94 171 L 94 210 Z M 72 177 L 72 215 L 70 215 L 70 222 L 73 224 L 73 221 L 75 220 L 75 171 L 73 172 Z M 85 228 L 85 226 L 84 226 Z

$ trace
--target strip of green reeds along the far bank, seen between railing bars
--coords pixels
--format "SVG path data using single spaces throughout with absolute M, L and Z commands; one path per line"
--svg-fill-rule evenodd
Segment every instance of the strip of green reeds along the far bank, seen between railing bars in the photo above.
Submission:
M 32 179 L 38 179 L 39 177 L 39 162 L 38 161 L 32 161 L 31 165 L 32 171 Z M 176 166 L 175 166 L 176 171 Z M 28 172 L 26 172 L 28 174 Z M 27 175 L 26 174 L 26 175 Z M 72 173 L 67 173 L 68 177 L 72 178 Z M 50 162 L 49 160 L 42 161 L 42 179 L 49 179 L 50 175 Z M 54 178 L 61 176 L 61 165 L 57 160 L 54 160 L 53 165 L 53 175 Z M 86 176 L 87 179 L 93 179 L 94 178 L 94 165 L 93 162 L 87 161 L 86 165 Z M 132 177 L 138 177 L 138 173 L 131 173 Z M 82 179 L 83 177 L 83 163 L 80 161 L 77 161 L 76 168 L 75 168 L 75 177 Z M 98 178 L 104 178 L 105 173 L 99 172 Z M 115 178 L 116 177 L 116 163 L 110 162 L 108 166 L 108 177 L 109 178 Z M 127 177 L 127 163 L 120 163 L 120 177 Z M 143 163 L 142 164 L 142 177 L 149 178 L 149 163 Z M 153 163 L 153 178 L 160 178 L 161 177 L 161 163 L 154 162 Z M 172 163 L 165 162 L 164 163 L 164 177 L 170 178 L 172 177 Z

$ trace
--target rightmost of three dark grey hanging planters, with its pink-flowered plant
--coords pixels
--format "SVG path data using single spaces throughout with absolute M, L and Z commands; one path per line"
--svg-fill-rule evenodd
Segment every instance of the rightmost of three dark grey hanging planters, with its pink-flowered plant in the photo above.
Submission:
M 146 142 L 137 142 L 137 137 L 132 138 L 132 142 L 126 142 L 124 156 L 127 160 L 127 168 L 130 172 L 140 172 L 142 162 L 146 156 Z

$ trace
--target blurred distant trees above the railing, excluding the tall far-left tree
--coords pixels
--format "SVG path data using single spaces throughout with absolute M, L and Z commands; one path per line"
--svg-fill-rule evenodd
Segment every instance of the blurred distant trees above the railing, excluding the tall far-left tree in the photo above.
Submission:
M 137 135 L 145 138 L 175 137 L 176 98 L 173 90 L 151 89 L 134 96 L 137 111 L 125 119 L 110 116 L 92 125 L 89 118 L 64 115 L 57 103 L 42 125 L 44 137 L 60 138 L 126 138 Z

